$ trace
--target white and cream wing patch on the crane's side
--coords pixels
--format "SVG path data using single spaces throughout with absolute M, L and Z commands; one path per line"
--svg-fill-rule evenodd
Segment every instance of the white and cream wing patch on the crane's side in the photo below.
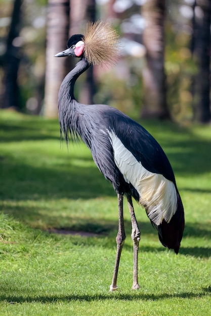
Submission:
M 146 170 L 126 149 L 120 139 L 108 131 L 114 150 L 114 161 L 126 182 L 130 182 L 141 196 L 150 220 L 156 225 L 164 219 L 169 223 L 177 209 L 177 192 L 172 181 L 163 175 Z

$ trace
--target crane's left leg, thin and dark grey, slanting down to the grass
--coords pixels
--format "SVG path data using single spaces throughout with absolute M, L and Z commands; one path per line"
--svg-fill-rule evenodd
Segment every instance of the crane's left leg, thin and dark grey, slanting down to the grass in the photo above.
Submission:
M 125 231 L 124 231 L 124 219 L 123 219 L 123 195 L 117 194 L 118 197 L 118 212 L 119 212 L 119 225 L 118 225 L 118 234 L 116 236 L 116 260 L 113 272 L 113 279 L 110 285 L 110 292 L 117 290 L 117 275 L 118 275 L 118 268 L 119 268 L 119 261 L 121 256 L 121 250 L 124 245 L 124 240 L 126 238 Z

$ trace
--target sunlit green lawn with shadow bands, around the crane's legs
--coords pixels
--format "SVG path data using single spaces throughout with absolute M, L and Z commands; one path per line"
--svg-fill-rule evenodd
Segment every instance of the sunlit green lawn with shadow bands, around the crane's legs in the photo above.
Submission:
M 142 239 L 132 291 L 126 238 L 110 293 L 117 198 L 83 145 L 60 145 L 57 120 L 0 112 L 0 315 L 211 315 L 211 129 L 143 122 L 175 171 L 186 227 L 163 248 L 135 203 Z M 54 229 L 94 236 L 54 234 Z

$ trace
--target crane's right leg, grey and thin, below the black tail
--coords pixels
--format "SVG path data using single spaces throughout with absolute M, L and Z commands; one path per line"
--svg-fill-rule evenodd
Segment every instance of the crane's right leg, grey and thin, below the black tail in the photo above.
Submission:
M 138 227 L 138 223 L 136 220 L 132 197 L 130 194 L 126 194 L 126 198 L 128 200 L 128 206 L 131 214 L 131 223 L 132 223 L 132 240 L 134 244 L 134 275 L 133 275 L 133 286 L 132 289 L 136 290 L 139 289 L 139 283 L 138 283 L 138 252 L 139 252 L 139 241 L 141 239 L 141 232 Z

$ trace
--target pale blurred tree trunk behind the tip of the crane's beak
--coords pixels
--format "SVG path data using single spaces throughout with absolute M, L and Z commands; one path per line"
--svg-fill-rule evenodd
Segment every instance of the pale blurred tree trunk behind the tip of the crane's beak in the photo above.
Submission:
M 66 58 L 55 58 L 67 46 L 69 33 L 69 0 L 49 0 L 47 14 L 46 83 L 44 115 L 58 116 L 58 92 L 67 74 Z

